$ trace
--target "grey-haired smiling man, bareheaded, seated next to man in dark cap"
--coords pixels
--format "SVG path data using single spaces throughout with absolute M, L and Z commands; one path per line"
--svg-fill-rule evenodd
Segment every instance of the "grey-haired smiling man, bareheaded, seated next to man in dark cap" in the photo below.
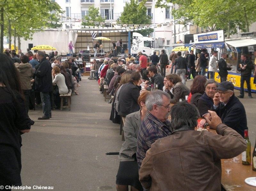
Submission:
M 218 84 L 215 80 L 209 79 L 205 83 L 205 92 L 197 100 L 196 107 L 199 110 L 199 114 L 201 117 L 209 117 L 210 114 L 208 113 L 208 110 L 211 109 L 213 105 L 213 97 L 214 94 L 217 92 L 216 88 L 218 87 Z

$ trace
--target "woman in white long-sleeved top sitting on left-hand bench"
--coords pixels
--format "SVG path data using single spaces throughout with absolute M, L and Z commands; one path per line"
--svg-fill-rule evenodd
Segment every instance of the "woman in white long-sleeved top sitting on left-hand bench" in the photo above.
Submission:
M 54 66 L 52 69 L 52 85 L 58 85 L 58 91 L 53 92 L 55 94 L 55 105 L 56 108 L 60 108 L 60 95 L 68 93 L 68 87 L 65 83 L 65 77 L 60 74 L 60 68 L 58 66 Z

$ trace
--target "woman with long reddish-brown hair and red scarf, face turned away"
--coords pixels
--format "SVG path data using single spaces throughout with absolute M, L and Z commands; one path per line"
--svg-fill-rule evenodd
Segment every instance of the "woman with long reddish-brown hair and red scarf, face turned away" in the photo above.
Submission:
M 201 98 L 204 94 L 204 85 L 206 82 L 206 78 L 202 75 L 196 76 L 191 87 L 190 94 L 188 96 L 188 103 L 194 104 L 197 106 L 197 100 Z

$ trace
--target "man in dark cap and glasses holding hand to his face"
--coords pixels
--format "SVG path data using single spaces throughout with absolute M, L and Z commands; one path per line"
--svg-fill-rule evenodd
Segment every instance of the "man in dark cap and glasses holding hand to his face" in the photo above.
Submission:
M 221 82 L 217 90 L 211 110 L 216 111 L 224 124 L 244 137 L 244 129 L 248 129 L 246 113 L 244 105 L 235 96 L 234 85 L 227 81 Z

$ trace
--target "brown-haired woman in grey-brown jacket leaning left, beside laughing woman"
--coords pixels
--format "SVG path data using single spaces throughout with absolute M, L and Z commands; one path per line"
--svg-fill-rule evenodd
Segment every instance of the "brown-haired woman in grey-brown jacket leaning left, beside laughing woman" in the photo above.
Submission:
M 181 82 L 181 78 L 177 74 L 169 74 L 165 76 L 168 80 L 167 83 L 170 87 L 172 87 L 173 98 L 171 99 L 171 103 L 177 103 L 181 99 L 185 101 L 186 95 L 189 95 L 189 88 Z

